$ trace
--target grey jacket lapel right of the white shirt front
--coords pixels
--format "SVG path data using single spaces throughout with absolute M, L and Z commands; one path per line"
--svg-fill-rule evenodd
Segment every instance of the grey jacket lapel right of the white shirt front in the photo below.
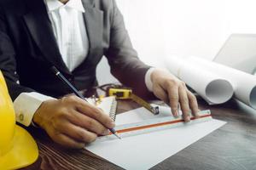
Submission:
M 90 47 L 88 56 L 74 71 L 90 65 L 90 61 L 94 59 L 99 50 L 102 50 L 103 11 L 95 8 L 93 0 L 82 0 L 82 3 L 85 9 L 84 22 Z

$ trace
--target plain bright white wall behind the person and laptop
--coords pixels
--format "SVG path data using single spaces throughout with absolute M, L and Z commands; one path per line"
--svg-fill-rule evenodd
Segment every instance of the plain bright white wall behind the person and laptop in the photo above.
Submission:
M 161 57 L 212 59 L 231 33 L 256 33 L 254 0 L 116 0 L 140 59 L 162 66 Z M 111 82 L 103 60 L 100 83 Z M 102 74 L 104 72 L 104 74 Z

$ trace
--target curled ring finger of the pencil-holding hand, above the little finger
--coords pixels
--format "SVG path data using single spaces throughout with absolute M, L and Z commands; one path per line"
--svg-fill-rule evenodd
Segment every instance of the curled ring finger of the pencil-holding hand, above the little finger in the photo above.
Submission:
M 59 132 L 66 134 L 69 138 L 81 143 L 91 143 L 96 140 L 96 133 L 91 133 L 86 129 L 76 126 L 70 122 L 63 123 Z M 64 127 L 64 128 L 63 128 Z

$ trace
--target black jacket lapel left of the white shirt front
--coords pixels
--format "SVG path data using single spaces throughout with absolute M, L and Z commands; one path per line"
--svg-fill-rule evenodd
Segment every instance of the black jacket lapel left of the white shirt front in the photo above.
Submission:
M 61 58 L 44 1 L 26 0 L 26 3 L 30 7 L 30 11 L 23 16 L 26 26 L 49 66 L 55 65 L 60 71 L 71 74 Z

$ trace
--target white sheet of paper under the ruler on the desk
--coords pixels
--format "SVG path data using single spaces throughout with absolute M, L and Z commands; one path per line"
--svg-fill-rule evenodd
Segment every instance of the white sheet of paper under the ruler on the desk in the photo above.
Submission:
M 136 122 L 142 116 L 147 118 L 146 110 L 139 108 L 117 116 L 117 124 Z M 153 133 L 144 133 L 123 139 L 94 142 L 86 146 L 87 150 L 102 156 L 125 169 L 148 169 L 166 158 L 183 150 L 189 144 L 203 138 L 208 133 L 221 127 L 225 122 L 212 119 L 208 122 L 184 124 Z

